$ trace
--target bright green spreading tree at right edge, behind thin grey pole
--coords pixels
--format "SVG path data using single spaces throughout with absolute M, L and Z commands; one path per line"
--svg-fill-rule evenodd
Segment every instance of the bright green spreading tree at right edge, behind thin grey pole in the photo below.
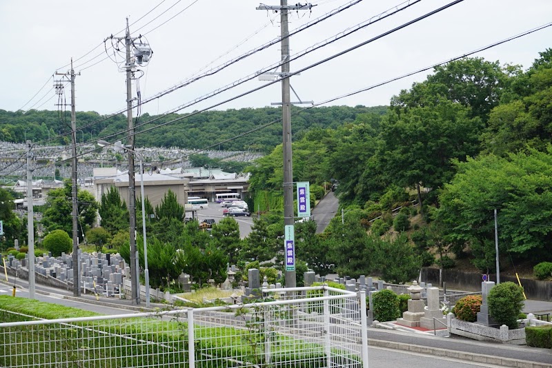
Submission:
M 440 194 L 436 219 L 451 241 L 464 243 L 483 272 L 494 270 L 494 209 L 499 245 L 517 258 L 552 260 L 552 147 L 547 152 L 494 155 L 456 163 L 457 174 Z

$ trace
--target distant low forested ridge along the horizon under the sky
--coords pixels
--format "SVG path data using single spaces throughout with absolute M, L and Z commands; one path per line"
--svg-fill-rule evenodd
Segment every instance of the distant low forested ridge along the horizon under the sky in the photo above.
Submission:
M 293 134 L 294 139 L 301 139 L 308 130 L 313 127 L 336 128 L 344 123 L 355 121 L 358 114 L 373 112 L 384 114 L 386 107 L 366 108 L 357 106 L 331 106 L 327 108 L 293 108 Z M 139 117 L 136 125 L 137 132 L 148 129 L 161 123 L 178 119 L 184 114 L 170 114 L 167 116 L 149 116 L 144 114 Z M 257 150 L 270 152 L 282 141 L 282 124 L 279 119 L 282 116 L 280 108 L 245 108 L 239 110 L 208 111 L 201 112 L 159 127 L 147 134 L 138 134 L 136 145 L 139 147 L 181 147 L 204 148 L 215 145 L 226 139 L 244 134 L 264 124 L 275 121 L 263 129 L 251 134 L 246 134 L 239 139 L 223 143 L 217 149 L 221 150 Z M 148 123 L 148 121 L 152 121 Z M 55 144 L 68 143 L 68 135 L 60 137 L 69 131 L 70 116 L 63 119 L 62 114 L 55 111 L 30 110 L 23 112 L 8 112 L 0 110 L 0 141 L 23 142 L 25 137 L 32 141 L 48 141 Z M 79 129 L 79 127 L 82 127 Z M 105 139 L 106 136 L 126 129 L 126 117 L 122 114 L 105 119 L 96 112 L 77 112 L 77 141 L 96 141 Z M 110 137 L 109 140 L 115 140 Z

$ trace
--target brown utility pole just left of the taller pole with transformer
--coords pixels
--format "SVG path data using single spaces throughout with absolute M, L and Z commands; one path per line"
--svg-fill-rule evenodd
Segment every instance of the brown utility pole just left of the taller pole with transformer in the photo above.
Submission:
M 71 184 L 72 184 L 72 235 L 73 235 L 73 295 L 81 296 L 81 284 L 79 275 L 79 209 L 77 206 L 77 118 L 75 113 L 75 70 L 73 70 L 73 59 L 71 58 L 71 70 L 67 73 L 57 73 L 56 75 L 68 76 L 71 83 Z M 79 74 L 80 75 L 80 74 Z M 55 84 L 57 93 L 63 91 L 63 84 Z M 54 165 L 55 170 L 55 165 Z M 84 234 L 83 234 L 84 235 Z

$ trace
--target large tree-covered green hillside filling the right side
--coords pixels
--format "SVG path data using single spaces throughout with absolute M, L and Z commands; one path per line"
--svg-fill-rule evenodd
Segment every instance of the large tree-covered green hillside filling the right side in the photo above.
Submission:
M 248 171 L 253 196 L 281 193 L 282 146 Z M 377 239 L 391 234 L 384 243 L 395 249 L 408 231 L 413 267 L 451 267 L 467 257 L 494 272 L 496 209 L 506 264 L 552 261 L 551 175 L 552 50 L 527 70 L 480 58 L 453 61 L 394 96 L 387 114 L 360 114 L 293 143 L 293 181 L 337 181 L 344 209 L 300 256 L 312 265 L 320 252 L 332 254 L 327 263 L 341 254 L 335 269 L 369 273 Z M 400 206 L 400 214 L 392 212 Z M 355 249 L 342 254 L 343 241 L 331 238 L 345 231 L 370 237 L 358 236 Z M 377 267 L 399 267 L 385 260 Z

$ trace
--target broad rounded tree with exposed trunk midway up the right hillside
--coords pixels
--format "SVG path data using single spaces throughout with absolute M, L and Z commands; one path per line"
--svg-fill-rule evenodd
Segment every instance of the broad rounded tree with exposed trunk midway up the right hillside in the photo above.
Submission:
M 433 107 L 390 113 L 382 122 L 382 168 L 393 183 L 437 188 L 452 178 L 452 159 L 464 161 L 479 150 L 481 121 L 470 119 L 469 110 L 458 103 L 442 101 Z M 420 207 L 422 208 L 422 207 Z

